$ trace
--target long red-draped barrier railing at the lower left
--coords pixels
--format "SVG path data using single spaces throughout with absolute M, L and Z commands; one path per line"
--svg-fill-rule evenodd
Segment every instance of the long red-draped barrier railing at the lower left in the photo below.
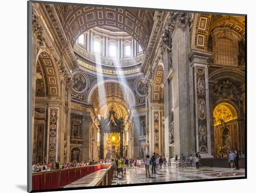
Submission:
M 71 167 L 67 169 L 36 172 L 32 174 L 32 190 L 46 190 L 64 187 L 75 180 L 78 180 L 97 170 L 106 169 L 109 166 L 110 164 L 97 164 L 85 167 Z M 105 175 L 103 178 L 105 178 Z

